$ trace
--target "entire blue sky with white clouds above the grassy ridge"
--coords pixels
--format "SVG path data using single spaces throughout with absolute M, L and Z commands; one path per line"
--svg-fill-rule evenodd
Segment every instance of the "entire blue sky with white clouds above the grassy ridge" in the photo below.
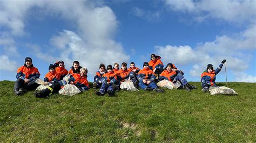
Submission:
M 41 78 L 50 63 L 69 70 L 78 60 L 92 81 L 100 62 L 142 68 L 155 53 L 188 81 L 226 59 L 228 81 L 256 82 L 255 9 L 255 1 L 228 0 L 0 1 L 0 80 L 15 81 L 26 56 Z

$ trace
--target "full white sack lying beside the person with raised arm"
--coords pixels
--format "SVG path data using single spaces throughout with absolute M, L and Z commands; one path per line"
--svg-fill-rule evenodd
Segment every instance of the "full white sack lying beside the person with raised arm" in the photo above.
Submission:
M 211 92 L 211 95 L 238 95 L 237 92 L 235 92 L 233 89 L 231 88 L 227 88 L 227 87 L 210 87 L 209 91 Z

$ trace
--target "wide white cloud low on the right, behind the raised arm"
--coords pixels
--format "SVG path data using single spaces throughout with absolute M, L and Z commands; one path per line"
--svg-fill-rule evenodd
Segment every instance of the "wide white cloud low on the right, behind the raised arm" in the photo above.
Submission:
M 181 66 L 193 65 L 190 75 L 194 77 L 199 76 L 209 63 L 217 68 L 223 59 L 227 60 L 227 69 L 233 71 L 233 73 L 236 71 L 244 72 L 248 68 L 255 68 L 255 64 L 254 66 L 248 65 L 254 56 L 252 55 L 253 51 L 256 49 L 255 34 L 252 32 L 254 28 L 255 26 L 251 26 L 244 32 L 235 33 L 230 37 L 226 35 L 216 37 L 214 41 L 198 44 L 196 48 L 167 45 L 165 47 L 156 46 L 155 49 L 165 63 L 172 62 Z M 244 52 L 245 49 L 247 52 Z M 234 75 L 241 80 L 239 74 Z M 244 76 L 254 79 L 252 75 Z

